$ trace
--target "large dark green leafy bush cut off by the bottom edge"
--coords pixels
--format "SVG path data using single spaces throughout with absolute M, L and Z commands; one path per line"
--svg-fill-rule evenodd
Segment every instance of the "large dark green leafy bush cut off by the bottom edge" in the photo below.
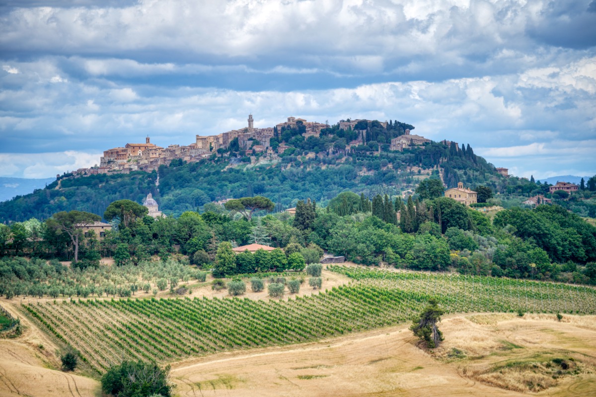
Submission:
M 169 365 L 162 370 L 156 362 L 123 361 L 101 377 L 101 389 L 114 397 L 170 397 L 169 372 Z

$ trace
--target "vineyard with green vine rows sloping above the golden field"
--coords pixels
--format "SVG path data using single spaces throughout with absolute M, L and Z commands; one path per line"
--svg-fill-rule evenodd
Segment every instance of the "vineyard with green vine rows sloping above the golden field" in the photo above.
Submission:
M 287 301 L 252 299 L 73 299 L 24 306 L 98 373 L 124 359 L 190 355 L 299 343 L 408 321 L 430 296 L 447 312 L 596 313 L 590 287 L 342 266 L 353 279 Z

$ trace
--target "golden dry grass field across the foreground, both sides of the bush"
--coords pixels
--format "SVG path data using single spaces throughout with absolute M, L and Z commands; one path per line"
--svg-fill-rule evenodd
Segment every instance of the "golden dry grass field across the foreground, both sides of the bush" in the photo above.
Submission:
M 0 396 L 100 395 L 97 380 L 58 371 L 57 346 L 24 324 L 23 336 L 0 340 Z M 401 324 L 191 358 L 172 363 L 171 377 L 181 397 L 596 396 L 596 316 L 450 315 L 440 327 L 432 353 Z

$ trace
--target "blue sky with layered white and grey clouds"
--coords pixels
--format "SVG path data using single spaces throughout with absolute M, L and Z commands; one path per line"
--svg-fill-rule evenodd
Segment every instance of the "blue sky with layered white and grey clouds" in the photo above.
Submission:
M 399 120 L 496 167 L 596 174 L 596 0 L 5 0 L 0 176 L 126 143 Z

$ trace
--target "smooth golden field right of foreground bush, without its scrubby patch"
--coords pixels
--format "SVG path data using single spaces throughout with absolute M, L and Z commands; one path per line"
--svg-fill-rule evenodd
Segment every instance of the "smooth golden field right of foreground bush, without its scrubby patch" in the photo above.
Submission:
M 438 360 L 417 348 L 402 325 L 186 360 L 173 365 L 172 377 L 181 396 L 523 396 L 527 393 L 470 379 L 463 369 L 545 350 L 596 357 L 596 317 L 567 316 L 564 321 L 558 323 L 552 315 L 454 315 L 441 324 L 448 342 L 437 352 Z M 504 350 L 503 341 L 523 348 Z M 466 351 L 473 360 L 445 360 L 453 348 Z M 593 372 L 582 374 L 538 395 L 596 395 L 595 382 Z

